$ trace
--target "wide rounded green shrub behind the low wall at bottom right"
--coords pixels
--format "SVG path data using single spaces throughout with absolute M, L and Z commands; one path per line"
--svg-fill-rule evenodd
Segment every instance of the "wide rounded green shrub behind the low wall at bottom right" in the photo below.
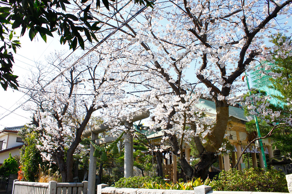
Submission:
M 205 181 L 214 191 L 258 191 L 288 193 L 284 173 L 277 170 L 244 169 L 222 171 L 213 181 Z

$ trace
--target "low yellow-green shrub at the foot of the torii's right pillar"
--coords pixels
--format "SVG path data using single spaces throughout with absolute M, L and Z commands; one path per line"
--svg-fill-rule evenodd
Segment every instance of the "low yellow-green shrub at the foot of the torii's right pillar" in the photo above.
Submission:
M 119 188 L 143 188 L 144 183 L 149 181 L 155 181 L 157 183 L 164 183 L 162 177 L 129 177 L 121 178 L 114 184 L 114 187 Z

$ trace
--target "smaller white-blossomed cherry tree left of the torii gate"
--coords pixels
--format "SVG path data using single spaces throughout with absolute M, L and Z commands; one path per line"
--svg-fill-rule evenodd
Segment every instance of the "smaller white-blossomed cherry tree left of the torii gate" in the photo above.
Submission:
M 63 182 L 73 181 L 73 156 L 84 151 L 79 143 L 91 115 L 119 97 L 118 94 L 113 96 L 119 86 L 109 78 L 107 70 L 110 67 L 101 55 L 88 55 L 79 60 L 43 88 L 48 79 L 77 58 L 64 59 L 64 55 L 52 53 L 47 59 L 49 65 L 39 65 L 39 74 L 33 74 L 25 86 L 32 97 L 25 108 L 34 111 L 35 130 L 41 133 L 38 148 L 44 160 L 58 165 Z

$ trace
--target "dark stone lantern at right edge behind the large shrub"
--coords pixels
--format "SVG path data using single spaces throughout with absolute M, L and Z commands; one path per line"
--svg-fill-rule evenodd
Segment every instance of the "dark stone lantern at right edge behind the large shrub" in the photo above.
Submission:
M 274 157 L 270 159 L 267 164 L 270 164 L 274 167 L 276 170 L 282 170 L 282 172 L 287 175 L 287 170 L 286 170 L 286 164 L 291 163 L 291 159 L 286 159 L 284 156 L 281 156 L 281 152 L 277 147 L 273 150 Z

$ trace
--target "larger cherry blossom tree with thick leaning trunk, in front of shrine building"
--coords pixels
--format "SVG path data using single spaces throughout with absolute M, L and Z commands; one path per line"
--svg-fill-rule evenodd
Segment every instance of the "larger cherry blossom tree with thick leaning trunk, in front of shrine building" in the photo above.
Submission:
M 127 23 L 107 46 L 96 49 L 100 54 L 119 56 L 109 63 L 119 63 L 121 72 L 128 73 L 128 82 L 147 88 L 138 97 L 115 101 L 104 114 L 110 118 L 114 112 L 131 108 L 151 109 L 151 128 L 164 130 L 163 140 L 170 143 L 187 177 L 205 179 L 216 154 L 224 149 L 228 107 L 235 104 L 229 96 L 243 88 L 238 82 L 242 73 L 252 70 L 258 60 L 271 58 L 264 43 L 273 32 L 290 28 L 282 21 L 290 17 L 291 6 L 291 0 L 156 1 L 154 9 Z M 134 6 L 120 11 L 106 23 L 109 28 L 104 32 L 121 25 L 137 10 Z M 100 17 L 109 15 L 93 13 L 93 18 L 104 23 Z M 213 119 L 196 107 L 199 97 L 215 103 Z M 279 116 L 265 103 L 258 107 L 251 103 L 260 99 L 250 96 L 247 100 L 251 112 L 269 114 L 269 122 Z M 200 157 L 194 169 L 182 153 L 183 140 L 190 138 Z

